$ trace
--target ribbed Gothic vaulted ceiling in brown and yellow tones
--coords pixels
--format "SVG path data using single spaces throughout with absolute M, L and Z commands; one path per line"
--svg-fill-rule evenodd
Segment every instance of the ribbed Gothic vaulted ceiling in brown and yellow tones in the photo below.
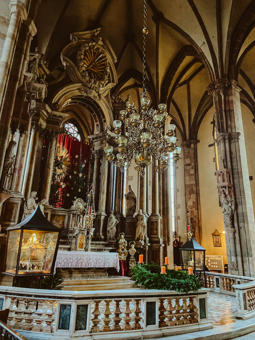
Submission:
M 42 0 L 34 43 L 56 78 L 70 34 L 101 27 L 100 35 L 117 58 L 119 83 L 112 95 L 137 97 L 143 4 L 143 0 Z M 150 95 L 155 106 L 167 103 L 183 140 L 196 138 L 212 106 L 206 87 L 214 79 L 238 81 L 241 100 L 255 118 L 255 0 L 148 0 L 147 26 Z

